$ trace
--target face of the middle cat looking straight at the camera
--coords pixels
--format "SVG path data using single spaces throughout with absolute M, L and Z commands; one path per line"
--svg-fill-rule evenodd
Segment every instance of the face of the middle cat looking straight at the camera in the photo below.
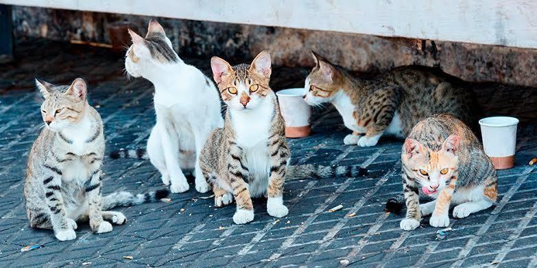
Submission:
M 271 59 L 267 51 L 259 53 L 250 65 L 234 67 L 221 58 L 213 57 L 211 69 L 222 100 L 231 109 L 255 109 L 270 90 Z

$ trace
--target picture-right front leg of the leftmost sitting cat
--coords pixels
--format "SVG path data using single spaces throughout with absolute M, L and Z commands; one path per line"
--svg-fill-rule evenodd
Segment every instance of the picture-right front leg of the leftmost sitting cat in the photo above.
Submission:
M 112 231 L 112 224 L 104 221 L 101 211 L 101 169 L 91 173 L 86 182 L 86 199 L 88 200 L 88 217 L 90 228 L 97 234 Z

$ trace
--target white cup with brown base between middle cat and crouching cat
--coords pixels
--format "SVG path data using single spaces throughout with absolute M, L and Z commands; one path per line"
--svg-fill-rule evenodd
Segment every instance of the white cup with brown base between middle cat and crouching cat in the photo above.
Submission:
M 311 106 L 304 101 L 302 93 L 304 88 L 288 88 L 276 92 L 287 138 L 302 138 L 311 134 Z

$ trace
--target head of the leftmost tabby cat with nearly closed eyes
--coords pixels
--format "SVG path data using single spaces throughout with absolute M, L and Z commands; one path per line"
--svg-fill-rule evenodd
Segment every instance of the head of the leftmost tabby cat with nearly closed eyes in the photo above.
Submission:
M 86 109 L 86 82 L 77 78 L 71 86 L 53 86 L 36 79 L 36 86 L 45 97 L 41 104 L 43 122 L 53 132 L 82 119 Z

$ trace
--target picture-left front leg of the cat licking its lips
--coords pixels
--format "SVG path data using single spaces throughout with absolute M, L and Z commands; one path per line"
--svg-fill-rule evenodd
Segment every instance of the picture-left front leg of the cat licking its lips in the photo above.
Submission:
M 407 175 L 403 173 L 403 193 L 405 195 L 405 204 L 407 205 L 406 219 L 399 223 L 399 227 L 403 230 L 414 230 L 420 226 L 420 199 L 418 195 L 418 187 L 412 181 L 409 181 Z

